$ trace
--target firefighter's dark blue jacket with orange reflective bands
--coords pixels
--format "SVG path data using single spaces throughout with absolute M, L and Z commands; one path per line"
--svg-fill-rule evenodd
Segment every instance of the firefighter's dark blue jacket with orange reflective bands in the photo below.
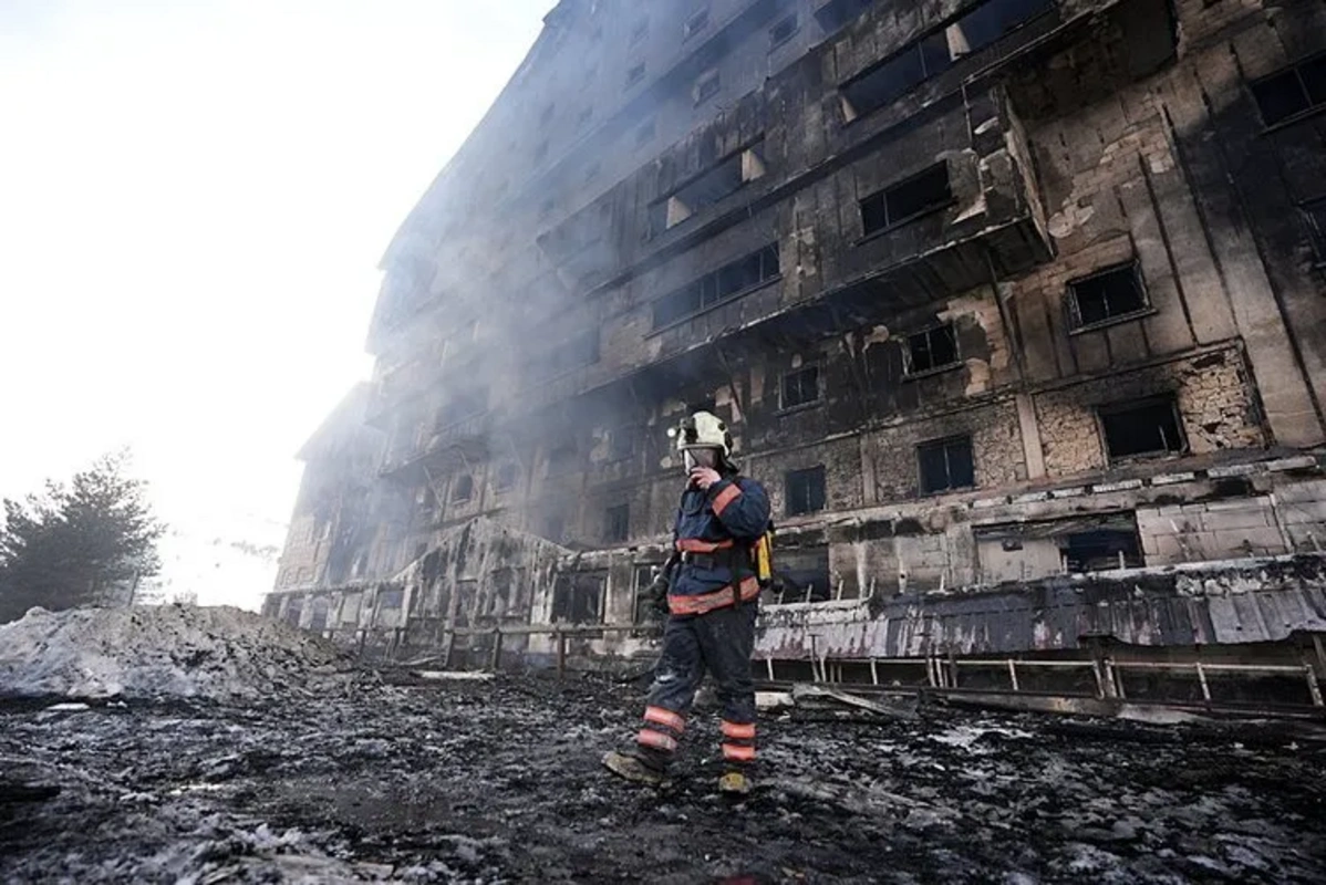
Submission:
M 701 615 L 760 595 L 749 550 L 769 527 L 769 495 L 754 480 L 724 476 L 682 493 L 675 543 L 682 563 L 668 590 L 674 615 Z M 736 591 L 736 592 L 733 592 Z

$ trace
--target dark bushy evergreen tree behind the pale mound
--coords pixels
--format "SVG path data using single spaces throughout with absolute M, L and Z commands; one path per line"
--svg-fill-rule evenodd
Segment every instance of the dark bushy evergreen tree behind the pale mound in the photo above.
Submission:
M 156 574 L 156 541 L 146 485 L 126 474 L 117 452 L 74 474 L 68 486 L 4 501 L 0 526 L 0 623 L 28 608 L 122 604 L 138 579 Z

